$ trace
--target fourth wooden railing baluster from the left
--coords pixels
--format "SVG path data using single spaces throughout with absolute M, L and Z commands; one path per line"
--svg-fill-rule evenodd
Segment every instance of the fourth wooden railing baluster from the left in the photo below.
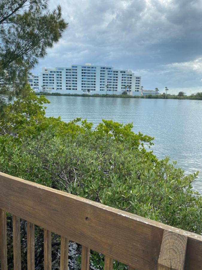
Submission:
M 51 270 L 51 232 L 44 229 L 44 270 Z

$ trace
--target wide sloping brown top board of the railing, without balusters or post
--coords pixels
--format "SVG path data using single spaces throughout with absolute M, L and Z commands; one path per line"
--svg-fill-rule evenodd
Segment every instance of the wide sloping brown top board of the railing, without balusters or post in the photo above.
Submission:
M 201 269 L 201 235 L 4 173 L 0 173 L 0 208 L 75 241 L 84 249 L 104 254 L 108 269 L 110 258 L 129 265 L 130 269 L 164 269 L 160 268 L 163 260 L 159 259 L 160 251 L 164 256 L 162 239 L 165 230 L 173 232 L 187 242 L 181 251 L 184 257 L 186 253 L 184 269 Z M 4 245 L 3 240 L 0 243 Z

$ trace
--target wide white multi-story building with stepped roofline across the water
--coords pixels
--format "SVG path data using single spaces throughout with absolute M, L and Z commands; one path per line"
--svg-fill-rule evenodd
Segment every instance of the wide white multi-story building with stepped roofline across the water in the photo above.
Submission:
M 112 66 L 71 65 L 71 67 L 42 68 L 28 83 L 34 91 L 58 93 L 140 95 L 141 76 L 131 70 L 118 70 Z

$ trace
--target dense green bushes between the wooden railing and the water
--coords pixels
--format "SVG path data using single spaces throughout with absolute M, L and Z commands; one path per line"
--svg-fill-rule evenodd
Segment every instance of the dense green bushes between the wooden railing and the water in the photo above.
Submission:
M 27 91 L 28 101 L 18 98 L 7 106 L 10 117 L 1 118 L 0 171 L 202 233 L 202 198 L 192 190 L 198 172 L 185 176 L 176 162 L 158 160 L 145 147 L 153 138 L 135 134 L 132 124 L 103 120 L 92 128 L 86 120 L 46 118 L 45 97 Z M 41 238 L 37 229 L 39 265 Z M 57 268 L 60 238 L 53 238 Z M 103 265 L 103 257 L 94 252 L 91 269 L 98 265 Z M 116 263 L 115 268 L 124 265 Z

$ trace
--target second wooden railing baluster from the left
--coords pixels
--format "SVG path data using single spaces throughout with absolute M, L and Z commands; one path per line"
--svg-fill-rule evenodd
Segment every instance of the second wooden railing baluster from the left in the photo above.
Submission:
M 20 218 L 13 215 L 13 261 L 14 270 L 21 270 Z

